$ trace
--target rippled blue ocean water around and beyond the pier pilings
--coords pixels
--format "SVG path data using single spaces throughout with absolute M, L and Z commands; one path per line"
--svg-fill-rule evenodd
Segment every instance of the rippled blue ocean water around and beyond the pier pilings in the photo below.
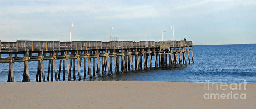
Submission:
M 87 59 L 86 59 L 86 77 L 84 77 L 83 60 L 81 65 L 81 81 L 118 81 L 118 80 L 136 80 L 136 81 L 172 81 L 172 82 L 210 82 L 217 83 L 232 83 L 243 82 L 256 83 L 256 44 L 237 44 L 237 45 L 194 45 L 193 56 L 194 63 L 192 63 L 191 53 L 188 66 L 176 68 L 158 68 L 154 70 L 140 70 L 121 72 L 121 58 L 119 58 L 120 72 L 113 72 L 108 75 L 107 72 L 92 76 L 90 79 L 87 75 Z M 33 54 L 37 56 L 37 54 Z M 20 55 L 21 56 L 21 55 Z M 187 56 L 187 55 L 186 55 Z M 8 57 L 8 55 L 2 55 Z M 188 59 L 187 59 L 188 61 Z M 152 65 L 154 67 L 154 56 Z M 47 78 L 48 61 L 44 61 L 45 79 Z M 97 62 L 96 62 L 97 63 Z M 188 63 L 188 62 L 187 62 Z M 36 68 L 37 62 L 29 62 L 30 82 L 36 82 Z M 66 63 L 65 63 L 66 65 Z M 97 65 L 97 64 L 96 64 Z M 23 62 L 13 63 L 15 82 L 22 82 L 23 76 Z M 144 65 L 142 65 L 144 66 Z M 158 63 L 159 66 L 159 63 Z M 101 67 L 101 64 L 100 64 Z M 148 58 L 149 67 L 149 58 Z M 143 67 L 144 68 L 144 67 Z M 92 69 L 92 62 L 91 62 Z M 59 60 L 57 60 L 57 73 L 59 70 Z M 62 70 L 62 68 L 61 68 Z M 65 68 L 67 70 L 67 68 Z M 77 70 L 77 68 L 76 68 Z M 96 69 L 95 69 L 96 71 Z M 7 82 L 8 64 L 0 63 L 0 82 Z M 77 71 L 76 71 L 77 74 Z M 51 72 L 50 72 L 51 76 Z M 59 81 L 63 81 L 63 75 Z M 71 81 L 78 81 L 73 79 L 73 66 L 71 71 Z M 55 81 L 55 75 L 53 76 Z M 51 81 L 51 77 L 50 77 Z M 67 71 L 65 71 L 65 81 L 67 81 Z

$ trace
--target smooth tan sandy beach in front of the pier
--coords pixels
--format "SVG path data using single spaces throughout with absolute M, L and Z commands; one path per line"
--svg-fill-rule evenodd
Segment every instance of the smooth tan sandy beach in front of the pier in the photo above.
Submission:
M 220 84 L 218 84 L 220 85 Z M 246 90 L 204 90 L 204 83 L 156 81 L 62 81 L 0 83 L 1 109 L 68 108 L 256 108 L 256 84 Z M 208 85 L 206 85 L 206 89 Z M 211 88 L 211 87 L 210 87 Z M 246 99 L 205 99 L 205 93 L 246 93 Z M 239 96 L 237 96 L 239 97 Z

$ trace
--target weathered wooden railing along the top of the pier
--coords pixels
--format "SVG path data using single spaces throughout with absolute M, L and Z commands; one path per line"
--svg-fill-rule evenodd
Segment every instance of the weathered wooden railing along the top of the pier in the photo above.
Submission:
M 127 48 L 154 48 L 161 49 L 192 47 L 192 41 L 23 41 L 1 42 L 0 52 L 10 51 L 55 51 L 55 50 L 90 50 L 90 49 L 127 49 Z

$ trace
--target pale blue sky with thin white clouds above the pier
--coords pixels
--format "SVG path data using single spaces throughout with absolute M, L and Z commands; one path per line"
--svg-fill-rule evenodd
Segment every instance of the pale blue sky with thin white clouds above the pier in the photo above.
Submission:
M 255 0 L 0 0 L 0 40 L 256 43 Z

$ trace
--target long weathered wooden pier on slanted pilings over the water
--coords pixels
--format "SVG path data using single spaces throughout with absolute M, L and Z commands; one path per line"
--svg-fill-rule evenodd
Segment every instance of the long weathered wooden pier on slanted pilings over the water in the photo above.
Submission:
M 104 72 L 119 72 L 119 66 L 123 72 L 127 70 L 144 70 L 149 67 L 153 69 L 152 61 L 155 61 L 154 68 L 187 66 L 186 53 L 188 55 L 188 63 L 190 63 L 189 51 L 191 51 L 193 59 L 192 41 L 16 41 L 1 42 L 0 40 L 0 63 L 9 63 L 8 81 L 14 82 L 13 62 L 24 62 L 23 82 L 30 82 L 28 63 L 30 61 L 38 61 L 36 81 L 46 81 L 44 75 L 43 61 L 48 61 L 47 81 L 54 81 L 53 73 L 55 73 L 55 81 L 60 79 L 61 65 L 63 67 L 63 80 L 65 80 L 65 66 L 67 67 L 68 81 L 71 80 L 71 67 L 73 61 L 73 78 L 81 80 L 81 62 L 83 59 L 83 76 L 86 76 L 86 64 L 88 64 L 87 75 L 92 77 L 95 75 L 95 60 L 97 61 L 96 73 L 98 76 Z M 37 56 L 32 56 L 36 53 Z M 9 58 L 1 58 L 2 54 L 9 54 Z M 13 57 L 14 54 L 14 57 Z M 18 57 L 23 54 L 23 57 Z M 46 55 L 49 54 L 49 55 Z M 182 54 L 182 57 L 181 57 Z M 154 60 L 152 57 L 154 56 Z M 110 57 L 110 58 L 109 58 Z M 168 58 L 167 58 L 168 57 Z M 119 64 L 121 58 L 121 64 Z M 149 59 L 148 59 L 149 58 Z M 87 63 L 86 63 L 87 59 Z M 91 71 L 92 59 L 92 71 Z M 110 59 L 110 60 L 109 60 Z M 56 62 L 59 60 L 59 72 L 57 72 Z M 69 61 L 70 60 L 70 61 Z M 101 60 L 101 67 L 100 67 Z M 149 66 L 148 66 L 149 60 Z M 169 61 L 168 61 L 169 60 Z M 113 62 L 112 62 L 113 61 Z M 159 61 L 159 62 L 158 62 Z M 66 62 L 66 63 L 65 63 Z M 69 63 L 70 62 L 70 63 Z M 128 65 L 127 65 L 128 62 Z M 114 67 L 112 65 L 114 63 Z M 159 63 L 159 65 L 158 65 Z M 76 68 L 77 66 L 77 74 Z M 54 68 L 54 70 L 53 70 Z M 53 72 L 54 71 L 54 72 Z M 42 75 L 41 75 L 42 74 Z

